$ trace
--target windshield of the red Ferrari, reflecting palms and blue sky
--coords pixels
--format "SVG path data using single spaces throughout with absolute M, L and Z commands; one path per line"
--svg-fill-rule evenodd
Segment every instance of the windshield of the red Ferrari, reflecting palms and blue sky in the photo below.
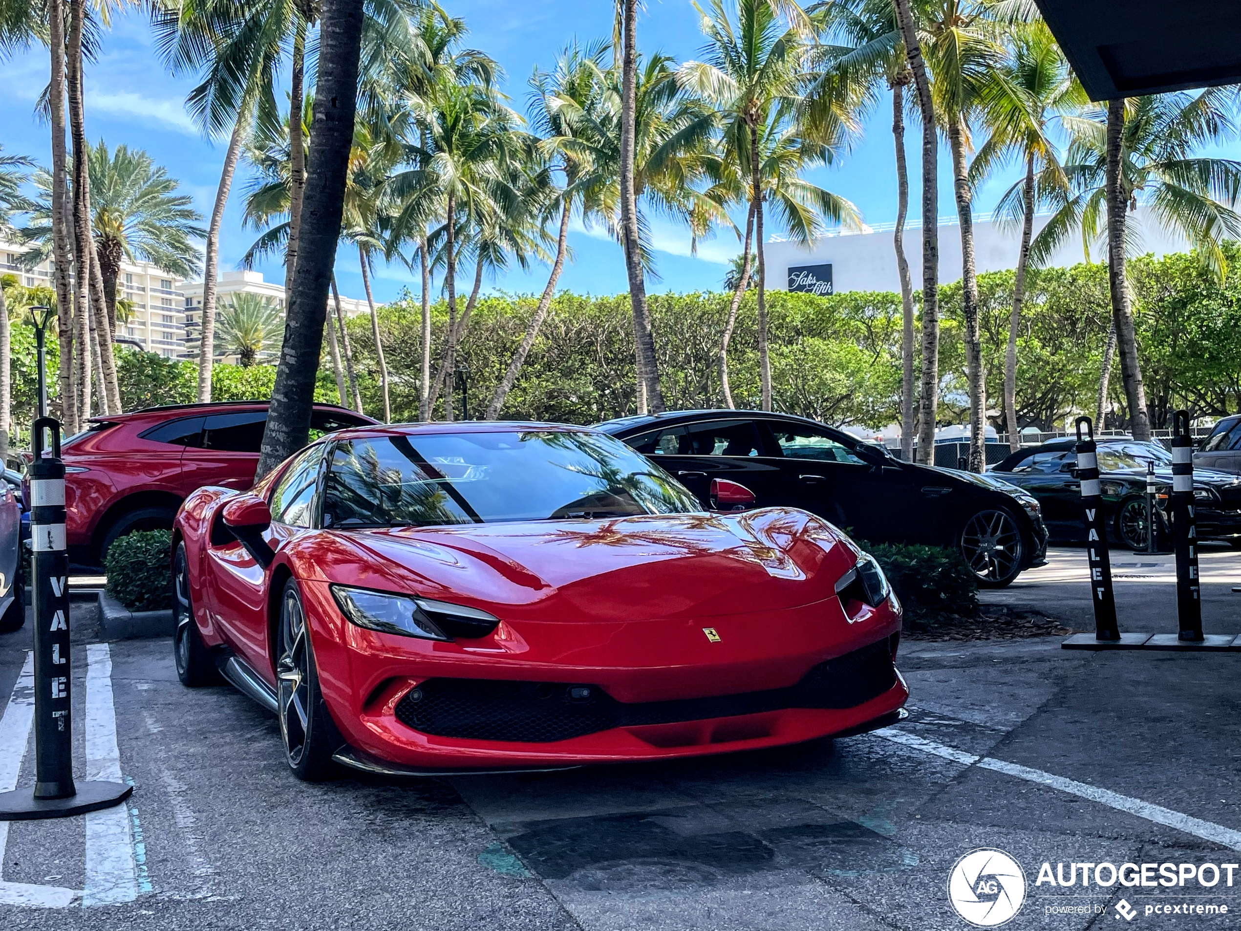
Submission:
M 701 510 L 676 479 L 602 433 L 424 433 L 338 443 L 323 524 L 433 526 Z

